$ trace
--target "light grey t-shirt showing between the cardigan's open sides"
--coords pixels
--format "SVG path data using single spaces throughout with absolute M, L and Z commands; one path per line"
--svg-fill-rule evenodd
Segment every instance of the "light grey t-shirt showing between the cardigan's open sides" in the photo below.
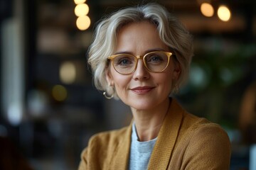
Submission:
M 156 138 L 146 142 L 139 142 L 135 124 L 132 125 L 132 142 L 129 156 L 130 170 L 147 169 Z

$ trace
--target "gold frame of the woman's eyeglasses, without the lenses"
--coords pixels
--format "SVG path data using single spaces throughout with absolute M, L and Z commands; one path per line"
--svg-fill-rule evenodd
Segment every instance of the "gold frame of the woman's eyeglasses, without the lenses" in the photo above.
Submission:
M 147 65 L 146 65 L 146 62 L 145 62 L 145 57 L 146 57 L 147 55 L 150 55 L 150 54 L 154 53 L 154 52 L 163 52 L 163 53 L 168 57 L 168 62 L 167 62 L 167 64 L 166 64 L 166 67 L 164 67 L 164 69 L 162 69 L 162 70 L 159 71 L 159 72 L 154 72 L 154 71 L 152 71 L 151 69 L 149 69 L 149 68 L 147 67 Z M 136 64 L 135 64 L 135 67 L 134 67 L 134 69 L 132 70 L 132 72 L 127 73 L 127 74 L 120 73 L 120 72 L 118 72 L 117 69 L 114 67 L 114 58 L 115 58 L 115 57 L 118 57 L 118 56 L 120 56 L 120 55 L 128 55 L 128 56 L 131 56 L 131 57 L 136 58 L 136 60 L 135 60 L 135 61 L 136 61 Z M 135 72 L 135 70 L 137 69 L 137 64 L 138 64 L 138 60 L 139 60 L 139 59 L 142 59 L 142 60 L 143 60 L 144 67 L 145 67 L 149 72 L 161 73 L 161 72 L 164 72 L 164 70 L 168 67 L 169 62 L 170 62 L 170 57 L 171 57 L 172 55 L 174 55 L 173 52 L 153 51 L 153 52 L 148 52 L 148 53 L 146 53 L 146 55 L 144 55 L 144 56 L 140 56 L 140 55 L 130 55 L 130 54 L 110 55 L 109 57 L 107 57 L 107 59 L 108 59 L 108 60 L 111 60 L 112 66 L 114 67 L 114 70 L 117 71 L 119 74 L 128 75 L 128 74 L 132 74 L 133 72 Z

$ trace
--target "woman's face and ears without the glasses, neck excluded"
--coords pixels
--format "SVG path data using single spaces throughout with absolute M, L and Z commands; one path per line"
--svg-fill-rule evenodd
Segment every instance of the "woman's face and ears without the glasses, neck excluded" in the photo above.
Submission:
M 156 50 L 169 52 L 169 47 L 160 40 L 156 26 L 144 21 L 130 23 L 119 30 L 114 54 L 144 56 L 147 52 Z M 169 101 L 172 83 L 178 79 L 180 72 L 180 67 L 174 66 L 172 57 L 169 66 L 161 73 L 149 72 L 140 59 L 137 69 L 128 75 L 119 74 L 110 64 L 107 81 L 128 106 L 137 110 L 149 110 Z

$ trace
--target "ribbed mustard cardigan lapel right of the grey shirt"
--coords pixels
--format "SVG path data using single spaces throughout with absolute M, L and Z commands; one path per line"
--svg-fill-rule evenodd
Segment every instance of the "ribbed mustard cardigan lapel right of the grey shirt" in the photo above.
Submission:
M 167 169 L 170 162 L 183 117 L 181 106 L 178 105 L 175 99 L 170 100 L 169 111 L 159 131 L 148 169 Z

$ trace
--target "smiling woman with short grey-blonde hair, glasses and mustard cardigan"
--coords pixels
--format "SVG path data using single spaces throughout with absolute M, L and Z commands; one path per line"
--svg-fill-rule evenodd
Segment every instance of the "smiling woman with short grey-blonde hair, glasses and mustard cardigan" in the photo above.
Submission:
M 132 110 L 132 123 L 91 137 L 79 169 L 229 169 L 219 125 L 191 115 L 170 94 L 186 80 L 192 38 L 163 6 L 124 8 L 95 30 L 95 86 Z

